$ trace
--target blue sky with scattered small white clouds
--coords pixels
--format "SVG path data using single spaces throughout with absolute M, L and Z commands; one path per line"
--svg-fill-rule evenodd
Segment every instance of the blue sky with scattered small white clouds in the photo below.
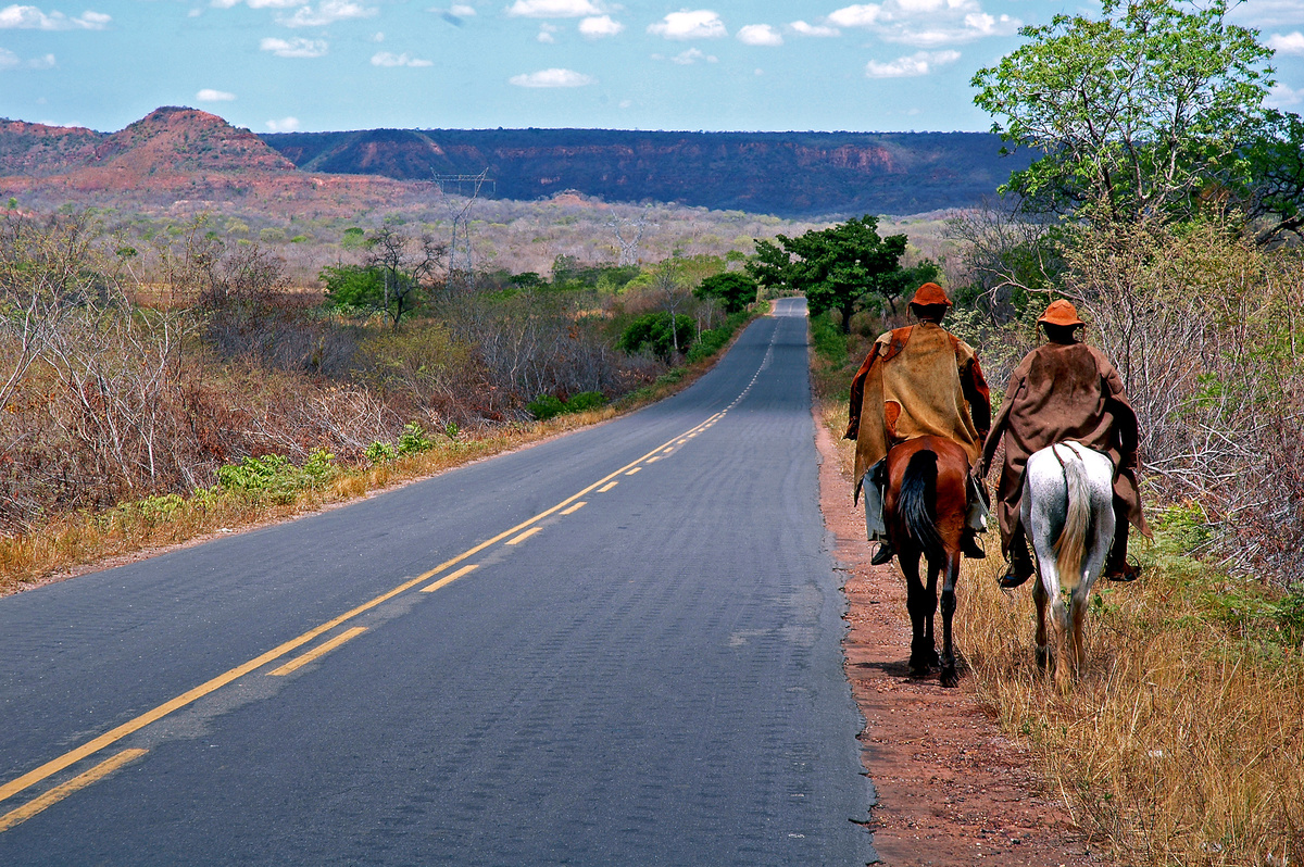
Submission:
M 1060 0 L 0 0 L 0 117 L 117 130 L 979 130 L 969 80 Z M 1248 0 L 1304 111 L 1304 0 Z

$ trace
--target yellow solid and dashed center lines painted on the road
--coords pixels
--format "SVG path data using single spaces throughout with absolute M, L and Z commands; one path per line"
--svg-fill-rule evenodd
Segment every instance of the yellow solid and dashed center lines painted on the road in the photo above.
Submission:
M 480 542 L 475 548 L 471 548 L 471 549 L 463 551 L 462 554 L 458 554 L 456 557 L 439 563 L 438 566 L 436 566 L 434 568 L 429 570 L 428 572 L 422 572 L 421 575 L 417 575 L 416 578 L 413 578 L 413 579 L 411 579 L 408 581 L 404 581 L 403 584 L 399 584 L 394 589 L 391 589 L 391 591 L 389 591 L 386 593 L 382 593 L 382 595 L 377 596 L 376 598 L 373 598 L 373 600 L 370 600 L 368 602 L 364 602 L 363 605 L 359 605 L 357 608 L 355 608 L 355 609 L 352 609 L 349 611 L 346 611 L 346 613 L 340 614 L 339 617 L 331 619 L 331 621 L 327 621 L 327 622 L 322 623 L 321 626 L 317 626 L 317 627 L 314 627 L 312 630 L 308 630 L 306 632 L 304 632 L 299 638 L 291 639 L 291 640 L 286 641 L 284 644 L 280 644 L 279 647 L 275 647 L 275 648 L 267 651 L 262 656 L 258 656 L 258 657 L 256 657 L 253 660 L 249 660 L 248 662 L 244 662 L 243 665 L 237 665 L 236 668 L 231 669 L 230 671 L 226 671 L 224 674 L 219 674 L 218 677 L 213 678 L 211 681 L 207 681 L 206 683 L 201 683 L 200 686 L 194 687 L 193 690 L 190 690 L 188 692 L 184 692 L 184 694 L 176 696 L 175 699 L 171 699 L 170 701 L 164 701 L 163 704 L 158 705 L 153 711 L 147 711 L 146 713 L 142 713 L 141 716 L 136 717 L 134 720 L 129 720 L 128 722 L 124 722 L 123 725 L 120 725 L 120 726 L 117 726 L 115 729 L 111 729 L 110 731 L 106 731 L 104 734 L 99 735 L 98 738 L 95 738 L 93 741 L 87 741 L 86 743 L 83 743 L 82 746 L 77 747 L 76 750 L 69 750 L 68 752 L 65 752 L 64 755 L 59 756 L 57 759 L 47 761 L 46 764 L 40 765 L 39 768 L 35 768 L 34 771 L 30 771 L 30 772 L 22 774 L 17 780 L 13 780 L 10 782 L 4 784 L 3 786 L 0 786 L 0 802 L 4 802 L 4 801 L 7 801 L 7 799 L 9 799 L 9 798 L 12 798 L 12 797 L 22 793 L 22 791 L 26 791 L 27 789 L 30 789 L 31 786 L 35 786 L 39 782 L 44 782 L 50 777 L 53 777 L 55 774 L 60 773 L 61 771 L 65 771 L 67 768 L 72 767 L 73 764 L 76 764 L 76 763 L 78 763 L 78 761 L 81 761 L 83 759 L 87 759 L 87 757 L 95 755 L 96 752 L 104 750 L 106 747 L 110 747 L 110 746 L 117 743 L 123 738 L 126 738 L 128 735 L 130 735 L 130 734 L 133 734 L 136 731 L 140 731 L 141 729 L 143 729 L 145 726 L 150 725 L 151 722 L 156 722 L 156 721 L 162 720 L 163 717 L 168 716 L 170 713 L 173 713 L 175 711 L 180 711 L 181 708 L 184 708 L 186 705 L 190 705 L 194 701 L 198 701 L 203 696 L 220 690 L 222 687 L 232 683 L 233 681 L 237 681 L 237 679 L 243 678 L 244 675 L 246 675 L 246 674 L 249 674 L 252 671 L 256 671 L 257 669 L 261 669 L 261 668 L 263 668 L 265 665 L 267 665 L 270 662 L 278 661 L 282 657 L 288 656 L 291 652 L 293 652 L 293 651 L 299 649 L 300 647 L 310 643 L 313 639 L 317 639 L 318 636 L 325 635 L 326 632 L 330 632 L 336 626 L 340 626 L 340 625 L 343 625 L 343 623 L 346 623 L 346 622 L 348 622 L 348 621 L 359 617 L 360 614 L 364 614 L 364 613 L 366 613 L 366 611 L 377 608 L 378 605 L 381 605 L 381 604 L 383 604 L 383 602 L 394 598 L 395 596 L 399 596 L 400 593 L 406 593 L 407 591 L 409 591 L 409 589 L 412 589 L 412 588 L 415 588 L 415 587 L 417 587 L 420 584 L 425 584 L 432 578 L 439 575 L 445 570 L 452 568 L 454 566 L 458 566 L 459 563 L 463 563 L 464 561 L 471 559 L 472 557 L 475 557 L 480 551 L 482 551 L 482 550 L 485 550 L 488 548 L 492 548 L 493 545 L 497 545 L 498 542 L 505 542 L 506 545 L 519 545 L 520 542 L 526 541 L 527 538 L 529 538 L 535 533 L 542 532 L 544 528 L 539 525 L 539 522 L 541 522 L 545 518 L 549 518 L 552 515 L 556 515 L 556 514 L 559 514 L 559 515 L 574 515 L 575 512 L 578 512 L 580 508 L 583 508 L 587 505 L 585 501 L 582 499 L 583 497 L 587 497 L 588 494 L 595 493 L 595 492 L 601 494 L 601 493 L 606 493 L 606 492 L 612 490 L 613 488 L 615 488 L 619 484 L 619 481 L 618 481 L 619 476 L 632 476 L 632 475 L 638 473 L 640 469 L 643 469 L 644 465 L 660 460 L 661 458 L 664 458 L 668 454 L 670 454 L 672 451 L 674 451 L 675 447 L 682 446 L 689 439 L 696 437 L 699 433 L 702 433 L 703 430 L 705 430 L 711 425 L 716 424 L 724 415 L 725 415 L 724 412 L 717 412 L 716 415 L 711 416 L 709 419 L 707 419 L 702 424 L 696 425 L 695 428 L 691 428 L 690 430 L 679 434 L 678 437 L 674 437 L 673 439 L 670 439 L 670 441 L 668 441 L 668 442 L 665 442 L 665 443 L 662 443 L 660 446 L 657 446 L 656 448 L 653 448 L 652 451 L 647 452 L 645 455 L 643 455 L 638 460 L 634 460 L 634 462 L 626 464 L 625 467 L 621 467 L 615 472 L 605 476 L 604 478 L 597 480 L 596 482 L 593 482 L 588 488 L 584 488 L 579 493 L 572 494 L 571 497 L 567 497 L 566 499 L 563 499 L 562 502 L 557 503 L 552 508 L 541 511 L 537 515 L 535 515 L 533 518 L 516 524 L 511 529 L 506 529 L 506 531 L 498 533 L 497 536 L 494 536 L 493 538 L 489 538 L 489 540 L 485 540 L 485 541 Z M 422 587 L 421 592 L 422 593 L 433 593 L 434 591 L 437 591 L 437 589 L 439 589 L 442 587 L 447 587 L 449 584 L 451 584 L 452 581 L 458 580 L 459 578 L 469 575 L 472 571 L 476 570 L 476 567 L 477 567 L 477 563 L 467 563 L 467 565 L 462 566 L 460 568 L 456 568 L 456 570 L 449 572 L 447 575 L 443 575 L 438 580 L 430 583 L 428 587 Z M 346 641 L 348 641 L 348 640 L 351 640 L 353 638 L 357 638 L 359 635 L 361 635 L 365 631 L 366 631 L 366 627 L 364 627 L 364 626 L 355 626 L 355 627 L 352 627 L 349 630 L 346 630 L 346 631 L 340 632 L 339 635 L 335 635 L 334 638 L 331 638 L 331 639 L 329 639 L 329 640 L 318 644 L 317 647 L 314 647 L 313 649 L 308 651 L 306 653 L 303 653 L 301 656 L 297 656 L 297 657 L 289 660 L 288 662 L 282 664 L 279 668 L 273 669 L 267 674 L 273 675 L 273 677 L 287 675 L 287 674 L 289 674 L 289 673 L 292 673 L 292 671 L 303 668 L 304 665 L 308 665 L 313 660 L 317 660 L 317 658 L 325 656 L 326 653 L 330 653 L 331 651 L 334 651 L 335 648 L 338 648 L 339 645 L 344 644 Z M 117 771 L 119 768 L 121 768 L 121 767 L 124 767 L 124 765 L 134 761 L 136 759 L 140 759 L 146 752 L 147 752 L 146 750 L 123 750 L 123 751 L 115 754 L 113 756 L 111 756 L 110 759 L 107 759 L 104 761 L 100 761 L 99 764 L 96 764 L 95 767 L 90 768 L 85 773 L 81 773 L 81 774 L 78 774 L 76 777 L 72 777 L 70 780 L 67 780 L 67 781 L 64 781 L 64 782 L 61 782 L 61 784 L 59 784 L 59 785 L 56 785 L 56 786 L 46 790 L 44 793 L 42 793 L 40 795 L 38 795 L 38 797 L 33 798 L 31 801 L 26 802 L 21 807 L 17 807 L 16 810 L 12 810 L 12 811 L 9 811 L 9 812 L 7 812 L 4 815 L 0 815 L 0 833 L 3 833 L 5 830 L 9 830 L 14 825 L 18 825 L 18 824 L 23 823 L 27 819 L 31 819 L 33 816 L 35 816 L 40 811 L 46 810 L 47 807 L 51 807 L 52 804 L 59 803 L 60 801 L 63 801 L 68 795 L 73 794 L 74 791 L 77 791 L 80 789 L 85 789 L 86 786 L 96 782 L 98 780 L 102 780 L 102 778 L 107 777 L 108 774 L 111 774 L 112 772 Z

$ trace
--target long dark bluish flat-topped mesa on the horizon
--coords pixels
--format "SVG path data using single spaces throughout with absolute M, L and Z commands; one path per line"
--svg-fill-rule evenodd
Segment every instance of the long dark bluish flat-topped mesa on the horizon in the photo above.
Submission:
M 789 218 L 964 207 L 1028 164 L 1022 155 L 1001 158 L 1000 140 L 990 133 L 373 129 L 262 140 L 314 172 L 428 181 L 488 169 L 502 198 L 574 189 L 609 202 Z

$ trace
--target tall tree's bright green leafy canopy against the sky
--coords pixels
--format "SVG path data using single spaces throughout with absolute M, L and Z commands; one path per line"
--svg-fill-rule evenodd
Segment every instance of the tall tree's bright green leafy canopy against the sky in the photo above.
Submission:
M 1004 189 L 1039 210 L 1090 206 L 1124 222 L 1185 216 L 1211 189 L 1247 189 L 1271 51 L 1227 9 L 1106 0 L 1101 20 L 1024 27 L 1029 43 L 973 80 L 994 132 L 1045 154 Z

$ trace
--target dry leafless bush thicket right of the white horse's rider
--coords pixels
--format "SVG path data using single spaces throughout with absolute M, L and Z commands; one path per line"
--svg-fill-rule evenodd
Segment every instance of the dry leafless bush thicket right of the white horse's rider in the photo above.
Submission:
M 1237 567 L 1304 580 L 1304 261 L 1204 223 L 1097 227 L 1068 265 L 1137 409 L 1149 497 L 1200 503 Z

